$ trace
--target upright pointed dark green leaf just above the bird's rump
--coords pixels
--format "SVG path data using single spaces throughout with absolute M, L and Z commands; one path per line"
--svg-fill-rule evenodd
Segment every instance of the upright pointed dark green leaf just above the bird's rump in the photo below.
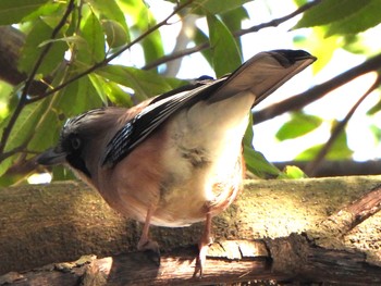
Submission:
M 214 15 L 207 15 L 213 69 L 217 77 L 233 72 L 242 63 L 239 49 L 228 27 Z

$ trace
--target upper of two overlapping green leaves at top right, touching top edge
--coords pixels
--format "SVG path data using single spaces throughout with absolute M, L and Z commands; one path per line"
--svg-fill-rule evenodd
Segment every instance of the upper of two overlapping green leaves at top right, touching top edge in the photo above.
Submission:
M 324 0 L 318 5 L 307 10 L 295 28 L 325 25 L 343 20 L 352 14 L 358 13 L 371 0 Z

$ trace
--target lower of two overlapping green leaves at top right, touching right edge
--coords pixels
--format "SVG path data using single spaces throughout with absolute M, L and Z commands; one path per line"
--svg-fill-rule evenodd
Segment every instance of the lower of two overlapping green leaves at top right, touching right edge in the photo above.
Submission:
M 360 1 L 359 1 L 360 2 Z M 336 34 L 357 34 L 380 24 L 381 0 L 371 0 L 357 13 L 353 13 L 329 26 L 325 37 Z

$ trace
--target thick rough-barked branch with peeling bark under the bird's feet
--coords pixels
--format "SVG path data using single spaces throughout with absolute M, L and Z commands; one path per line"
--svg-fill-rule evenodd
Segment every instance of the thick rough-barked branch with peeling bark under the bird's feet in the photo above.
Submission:
M 201 279 L 192 277 L 201 224 L 152 227 L 163 253 L 159 268 L 144 253 L 125 253 L 135 249 L 140 224 L 118 215 L 83 184 L 3 189 L 0 273 L 12 272 L 0 285 L 380 285 L 380 176 L 247 182 L 238 200 L 213 220 L 216 244 Z M 103 259 L 57 264 L 89 253 Z

